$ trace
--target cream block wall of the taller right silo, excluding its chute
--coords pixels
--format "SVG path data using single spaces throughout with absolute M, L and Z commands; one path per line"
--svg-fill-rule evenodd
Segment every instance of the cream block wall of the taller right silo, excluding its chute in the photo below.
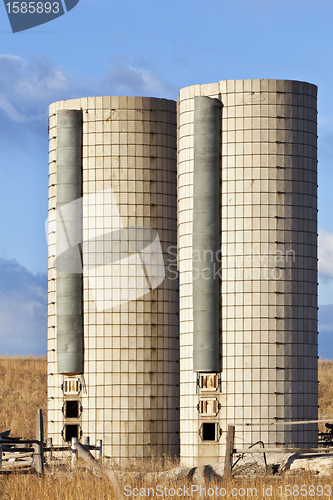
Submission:
M 193 371 L 194 97 L 223 104 L 221 169 L 222 371 L 200 392 Z M 280 80 L 221 81 L 180 91 L 178 245 L 181 457 L 224 456 L 228 424 L 236 445 L 315 446 L 317 418 L 317 88 Z M 209 398 L 208 398 L 209 396 Z M 199 413 L 218 400 L 217 414 Z M 201 407 L 200 407 L 201 408 Z M 202 424 L 217 423 L 216 441 Z M 260 427 L 237 424 L 259 423 Z

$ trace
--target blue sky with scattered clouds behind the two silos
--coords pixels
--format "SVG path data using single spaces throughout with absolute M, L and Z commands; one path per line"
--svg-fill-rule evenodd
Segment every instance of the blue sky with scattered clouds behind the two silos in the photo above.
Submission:
M 319 353 L 333 359 L 332 19 L 331 0 L 80 0 L 13 34 L 0 5 L 0 354 L 46 352 L 49 103 L 281 78 L 319 87 Z

